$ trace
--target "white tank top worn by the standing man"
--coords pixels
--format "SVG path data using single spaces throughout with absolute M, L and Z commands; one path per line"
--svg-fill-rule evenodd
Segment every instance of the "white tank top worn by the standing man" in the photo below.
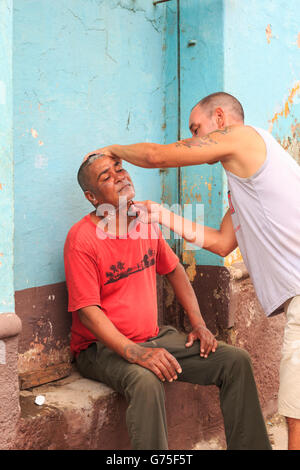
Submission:
M 300 166 L 274 137 L 254 127 L 266 160 L 250 178 L 226 171 L 239 248 L 257 297 L 271 315 L 300 295 Z

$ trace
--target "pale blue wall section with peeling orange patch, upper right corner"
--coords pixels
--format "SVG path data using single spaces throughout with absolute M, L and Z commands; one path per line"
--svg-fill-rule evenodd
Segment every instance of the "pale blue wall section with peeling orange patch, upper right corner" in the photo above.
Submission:
M 224 11 L 224 88 L 242 101 L 247 124 L 299 158 L 299 1 L 227 0 Z

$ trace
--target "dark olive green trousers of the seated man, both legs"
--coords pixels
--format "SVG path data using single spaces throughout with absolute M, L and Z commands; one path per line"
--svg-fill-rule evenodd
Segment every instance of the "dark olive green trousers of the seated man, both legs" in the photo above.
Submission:
M 243 349 L 220 342 L 216 352 L 200 357 L 200 342 L 187 348 L 187 335 L 163 326 L 143 346 L 165 348 L 179 362 L 179 381 L 216 385 L 228 450 L 271 450 L 259 404 L 251 360 Z M 126 423 L 135 450 L 168 449 L 163 383 L 148 369 L 131 364 L 101 343 L 82 351 L 79 372 L 125 396 Z

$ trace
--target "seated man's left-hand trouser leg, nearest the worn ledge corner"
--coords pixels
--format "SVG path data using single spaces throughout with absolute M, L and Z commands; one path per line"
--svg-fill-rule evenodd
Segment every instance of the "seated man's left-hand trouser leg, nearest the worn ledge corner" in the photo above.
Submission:
M 126 423 L 134 450 L 168 449 L 164 387 L 155 374 L 130 364 L 100 343 L 81 352 L 77 366 L 83 376 L 125 396 Z

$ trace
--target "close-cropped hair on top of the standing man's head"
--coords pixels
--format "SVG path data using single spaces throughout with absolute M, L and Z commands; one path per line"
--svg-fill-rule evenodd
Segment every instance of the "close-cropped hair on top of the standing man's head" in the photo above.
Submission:
M 193 109 L 196 107 L 200 107 L 208 118 L 211 118 L 215 109 L 220 107 L 234 119 L 244 122 L 244 110 L 241 103 L 234 96 L 223 91 L 206 96 Z

